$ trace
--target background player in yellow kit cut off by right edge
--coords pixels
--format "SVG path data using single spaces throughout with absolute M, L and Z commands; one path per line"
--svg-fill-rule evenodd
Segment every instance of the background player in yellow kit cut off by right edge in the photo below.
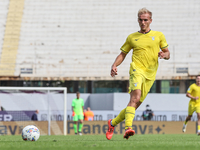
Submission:
M 188 116 L 185 119 L 182 130 L 183 132 L 186 132 L 187 123 L 189 120 L 191 120 L 192 114 L 196 111 L 198 119 L 197 135 L 200 135 L 200 75 L 196 76 L 196 83 L 190 85 L 186 96 L 190 98 L 190 102 L 188 106 Z

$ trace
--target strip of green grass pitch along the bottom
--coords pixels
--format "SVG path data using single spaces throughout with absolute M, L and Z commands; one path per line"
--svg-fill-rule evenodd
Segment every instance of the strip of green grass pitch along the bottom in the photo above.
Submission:
M 40 136 L 36 142 L 23 141 L 21 136 L 0 136 L 2 150 L 199 150 L 200 136 L 196 134 Z

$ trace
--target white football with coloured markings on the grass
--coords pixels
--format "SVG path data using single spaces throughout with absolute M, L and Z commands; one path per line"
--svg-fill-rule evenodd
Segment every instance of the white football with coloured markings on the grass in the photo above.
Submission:
M 37 141 L 39 137 L 40 131 L 34 125 L 28 125 L 22 130 L 22 139 L 24 141 Z

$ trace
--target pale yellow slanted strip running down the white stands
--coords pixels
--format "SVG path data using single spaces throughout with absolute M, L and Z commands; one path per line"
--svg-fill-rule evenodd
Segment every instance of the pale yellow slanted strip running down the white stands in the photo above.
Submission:
M 1 51 L 0 75 L 14 76 L 24 0 L 10 1 Z

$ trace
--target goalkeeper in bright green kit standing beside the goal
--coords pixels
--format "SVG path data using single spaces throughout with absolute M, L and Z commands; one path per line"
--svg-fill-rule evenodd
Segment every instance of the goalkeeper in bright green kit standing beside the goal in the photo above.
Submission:
M 84 101 L 80 98 L 80 93 L 76 92 L 76 98 L 72 100 L 72 116 L 74 121 L 74 132 L 77 135 L 77 122 L 79 121 L 78 132 L 79 135 L 82 135 L 83 127 L 83 110 L 84 110 Z

